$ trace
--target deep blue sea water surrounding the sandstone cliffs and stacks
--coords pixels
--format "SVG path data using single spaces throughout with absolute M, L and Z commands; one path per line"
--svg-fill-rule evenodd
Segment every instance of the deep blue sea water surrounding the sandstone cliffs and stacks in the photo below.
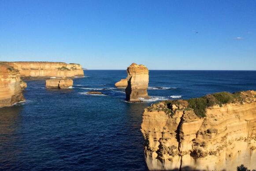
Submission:
M 126 71 L 85 71 L 73 89 L 27 80 L 26 103 L 0 108 L 0 170 L 147 170 L 141 114 L 154 101 L 126 103 L 115 82 Z M 256 89 L 256 71 L 150 71 L 153 100 Z M 86 95 L 90 90 L 106 96 Z

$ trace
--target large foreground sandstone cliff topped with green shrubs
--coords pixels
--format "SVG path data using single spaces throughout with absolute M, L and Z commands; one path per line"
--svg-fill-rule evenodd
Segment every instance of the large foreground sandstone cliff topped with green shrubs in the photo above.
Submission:
M 207 107 L 202 118 L 204 100 Z M 150 170 L 234 171 L 241 164 L 256 168 L 254 91 L 164 101 L 145 109 L 142 118 Z

